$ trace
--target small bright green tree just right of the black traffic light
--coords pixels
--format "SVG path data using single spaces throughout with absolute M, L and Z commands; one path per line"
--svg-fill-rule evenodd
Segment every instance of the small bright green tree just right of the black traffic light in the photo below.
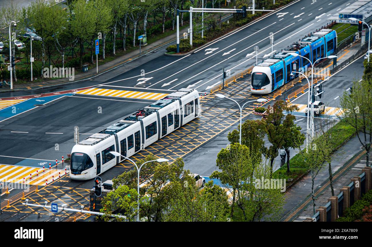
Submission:
M 137 190 L 126 185 L 120 185 L 110 191 L 102 199 L 101 213 L 103 219 L 109 221 L 111 214 L 124 215 L 126 218 L 115 217 L 117 221 L 135 221 L 137 215 Z

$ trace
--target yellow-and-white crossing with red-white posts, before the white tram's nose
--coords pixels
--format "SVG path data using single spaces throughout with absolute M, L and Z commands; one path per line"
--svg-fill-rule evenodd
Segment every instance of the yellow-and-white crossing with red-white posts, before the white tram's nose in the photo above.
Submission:
M 60 172 L 61 177 L 65 175 L 64 171 L 57 169 L 45 169 L 43 172 L 42 168 L 0 165 L 0 182 L 22 184 L 23 178 L 25 178 L 24 182 L 27 184 L 45 185 L 46 180 L 48 180 L 48 184 L 53 181 L 53 176 L 54 181 L 56 181 Z

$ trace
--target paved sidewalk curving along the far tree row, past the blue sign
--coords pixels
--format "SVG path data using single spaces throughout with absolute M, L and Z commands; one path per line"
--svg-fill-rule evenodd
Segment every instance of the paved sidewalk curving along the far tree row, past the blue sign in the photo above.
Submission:
M 185 27 L 184 29 L 180 29 L 180 33 L 187 32 L 188 27 Z M 90 78 L 92 76 L 100 75 L 103 72 L 107 72 L 115 67 L 118 67 L 120 65 L 124 65 L 128 62 L 131 62 L 135 59 L 138 59 L 140 57 L 146 56 L 151 52 L 154 52 L 158 49 L 165 48 L 166 46 L 170 45 L 173 42 L 176 42 L 177 39 L 177 33 L 173 33 L 167 37 L 164 37 L 163 39 L 159 39 L 149 45 L 146 46 L 141 46 L 141 56 L 140 56 L 140 51 L 134 50 L 132 52 L 126 53 L 125 55 L 122 55 L 120 57 L 117 57 L 113 59 L 110 62 L 104 63 L 102 65 L 98 65 L 98 74 L 96 73 L 96 68 L 89 69 L 88 72 L 86 73 L 78 73 L 75 75 L 75 80 L 73 82 L 79 81 L 79 80 L 84 80 L 87 78 Z M 109 51 L 106 51 L 109 52 Z M 148 62 L 148 60 L 144 59 L 143 63 Z M 34 76 L 36 77 L 36 76 Z M 37 78 L 37 77 L 36 77 Z M 26 90 L 26 89 L 37 89 L 41 88 L 44 86 L 53 86 L 53 85 L 59 85 L 63 83 L 68 83 L 71 82 L 69 81 L 69 78 L 60 78 L 60 79 L 55 79 L 55 80 L 45 80 L 42 82 L 30 82 L 30 83 L 22 83 L 22 84 L 16 84 L 13 83 L 13 89 L 14 90 Z M 3 87 L 0 88 L 0 92 L 2 91 L 9 91 L 9 87 Z

